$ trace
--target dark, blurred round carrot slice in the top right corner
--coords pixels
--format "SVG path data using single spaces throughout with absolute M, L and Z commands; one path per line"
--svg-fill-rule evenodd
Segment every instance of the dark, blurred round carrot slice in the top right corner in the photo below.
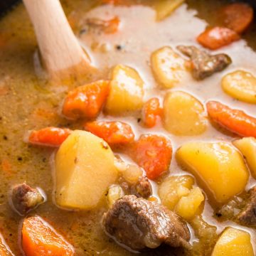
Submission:
M 253 9 L 245 3 L 228 4 L 220 11 L 223 26 L 236 33 L 244 32 L 253 20 Z

